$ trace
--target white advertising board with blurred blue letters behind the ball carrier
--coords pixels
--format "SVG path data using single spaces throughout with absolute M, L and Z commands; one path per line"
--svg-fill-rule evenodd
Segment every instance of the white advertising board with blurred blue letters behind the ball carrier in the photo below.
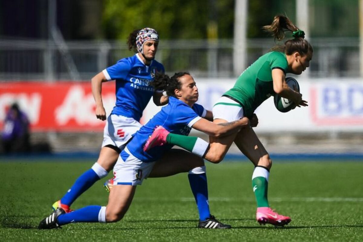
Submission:
M 363 80 L 362 79 L 298 79 L 300 92 L 308 107 L 279 112 L 273 97 L 257 108 L 257 132 L 315 132 L 363 131 Z M 234 85 L 235 79 L 195 79 L 199 88 L 199 101 L 208 110 L 214 102 Z M 160 110 L 149 103 L 144 111 L 147 122 Z

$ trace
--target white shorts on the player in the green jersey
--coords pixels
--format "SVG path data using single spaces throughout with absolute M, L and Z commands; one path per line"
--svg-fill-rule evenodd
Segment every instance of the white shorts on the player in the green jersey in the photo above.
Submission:
M 241 104 L 227 97 L 220 97 L 214 104 L 213 119 L 224 119 L 227 122 L 243 118 L 243 107 Z

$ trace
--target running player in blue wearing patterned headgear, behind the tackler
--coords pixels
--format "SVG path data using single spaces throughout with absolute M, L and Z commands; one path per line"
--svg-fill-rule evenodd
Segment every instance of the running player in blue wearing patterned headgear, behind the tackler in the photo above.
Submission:
M 119 60 L 115 65 L 107 67 L 91 79 L 92 94 L 96 103 L 95 114 L 101 120 L 106 120 L 106 111 L 101 97 L 102 83 L 116 81 L 116 104 L 106 121 L 98 160 L 91 169 L 78 177 L 60 200 L 54 202 L 54 210 L 62 208 L 65 212 L 72 211 L 69 206 L 77 197 L 112 170 L 125 144 L 142 126 L 139 121 L 151 97 L 158 106 L 168 102 L 167 96 L 164 96 L 161 91 L 154 91 L 150 85 L 156 73 L 164 73 L 164 66 L 154 60 L 159 44 L 156 30 L 151 28 L 135 30 L 130 34 L 127 43 L 129 49 L 134 49 L 136 54 Z M 204 165 L 199 157 L 187 156 L 189 160 Z M 165 159 L 175 161 L 180 160 L 180 156 L 170 153 Z M 203 168 L 196 168 L 191 173 L 200 173 L 198 172 L 200 169 Z M 195 181 L 191 181 L 191 185 L 194 183 Z

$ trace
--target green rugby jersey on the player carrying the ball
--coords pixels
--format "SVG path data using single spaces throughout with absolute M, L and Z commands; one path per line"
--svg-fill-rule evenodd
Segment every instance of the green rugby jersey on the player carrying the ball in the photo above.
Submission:
M 287 71 L 286 56 L 282 52 L 269 52 L 253 62 L 238 77 L 232 89 L 223 96 L 231 97 L 242 104 L 244 116 L 251 118 L 262 102 L 274 95 L 272 69 Z

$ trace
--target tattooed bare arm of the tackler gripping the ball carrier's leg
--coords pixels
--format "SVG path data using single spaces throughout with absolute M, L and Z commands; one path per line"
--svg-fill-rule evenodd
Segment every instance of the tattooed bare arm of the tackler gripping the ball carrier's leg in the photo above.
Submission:
M 234 132 L 238 132 L 245 126 L 249 126 L 249 119 L 247 117 L 243 117 L 233 122 L 220 124 L 215 124 L 207 119 L 201 118 L 195 122 L 192 127 L 209 136 L 220 138 L 233 134 Z

